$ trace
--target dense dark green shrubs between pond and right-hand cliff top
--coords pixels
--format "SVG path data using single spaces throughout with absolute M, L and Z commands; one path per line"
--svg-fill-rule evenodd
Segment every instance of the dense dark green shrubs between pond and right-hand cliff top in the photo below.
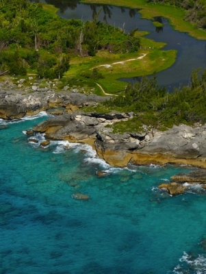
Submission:
M 136 127 L 145 124 L 164 129 L 180 123 L 206 123 L 206 70 L 202 75 L 198 70 L 193 71 L 190 84 L 172 93 L 157 85 L 155 75 L 151 79 L 143 77 L 133 86 L 127 86 L 125 96 L 110 99 L 104 105 L 133 111 Z

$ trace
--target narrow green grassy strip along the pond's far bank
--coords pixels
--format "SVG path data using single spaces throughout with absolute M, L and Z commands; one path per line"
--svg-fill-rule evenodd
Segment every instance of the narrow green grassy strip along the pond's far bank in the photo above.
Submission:
M 192 23 L 184 21 L 185 12 L 171 5 L 149 3 L 146 0 L 113 0 L 112 2 L 110 0 L 84 0 L 82 2 L 140 8 L 143 18 L 153 19 L 154 16 L 164 16 L 169 19 L 172 26 L 179 32 L 188 32 L 188 34 L 197 39 L 206 40 L 206 32 L 202 29 L 196 29 Z

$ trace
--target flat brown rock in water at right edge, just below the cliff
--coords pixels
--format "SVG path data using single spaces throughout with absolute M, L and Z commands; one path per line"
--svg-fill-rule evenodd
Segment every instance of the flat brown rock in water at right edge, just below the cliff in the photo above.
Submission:
M 204 184 L 206 183 L 206 171 L 198 170 L 190 173 L 179 173 L 171 177 L 173 182 L 188 182 L 190 184 Z

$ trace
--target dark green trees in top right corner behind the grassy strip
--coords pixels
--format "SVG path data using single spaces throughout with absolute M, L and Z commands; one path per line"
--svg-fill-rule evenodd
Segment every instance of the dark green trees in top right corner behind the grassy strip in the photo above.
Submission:
M 190 21 L 196 27 L 206 29 L 206 3 L 205 0 L 149 0 L 154 3 L 168 3 L 177 5 L 187 11 L 185 20 Z

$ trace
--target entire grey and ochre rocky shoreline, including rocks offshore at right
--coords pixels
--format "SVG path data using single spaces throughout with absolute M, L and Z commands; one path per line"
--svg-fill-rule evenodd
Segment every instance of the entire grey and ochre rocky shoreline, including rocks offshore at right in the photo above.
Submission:
M 87 143 L 92 145 L 100 158 L 112 166 L 186 164 L 206 169 L 206 125 L 179 125 L 165 132 L 144 127 L 142 132 L 113 134 L 112 128 L 107 126 L 131 119 L 133 113 L 101 114 L 81 111 L 83 106 L 94 105 L 105 99 L 69 90 L 2 90 L 0 118 L 18 119 L 47 110 L 54 116 L 36 125 L 32 130 L 27 130 L 29 136 L 42 132 L 48 141 L 69 140 Z M 204 177 L 201 172 L 198 174 L 203 178 L 201 184 L 205 184 L 206 175 Z M 172 183 L 162 184 L 159 188 L 166 188 L 170 194 L 185 190 L 185 186 L 180 186 L 177 179 L 171 179 Z M 190 182 L 190 178 L 184 182 Z M 200 183 L 197 177 L 196 182 Z

